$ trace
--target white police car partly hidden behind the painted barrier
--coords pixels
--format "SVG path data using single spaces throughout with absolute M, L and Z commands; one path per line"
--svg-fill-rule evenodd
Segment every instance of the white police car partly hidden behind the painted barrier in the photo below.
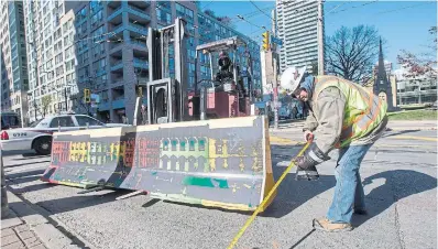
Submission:
M 35 150 L 37 154 L 50 154 L 53 132 L 129 126 L 103 123 L 87 115 L 67 113 L 46 117 L 28 128 L 2 130 L 0 139 L 3 151 Z

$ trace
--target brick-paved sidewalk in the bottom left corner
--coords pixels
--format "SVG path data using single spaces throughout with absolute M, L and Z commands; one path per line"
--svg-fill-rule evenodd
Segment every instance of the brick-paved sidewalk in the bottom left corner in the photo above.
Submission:
M 76 249 L 74 241 L 17 195 L 8 191 L 9 215 L 1 217 L 2 249 Z

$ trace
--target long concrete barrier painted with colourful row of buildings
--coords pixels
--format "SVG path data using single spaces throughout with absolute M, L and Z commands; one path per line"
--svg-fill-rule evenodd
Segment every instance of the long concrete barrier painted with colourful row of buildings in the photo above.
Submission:
M 42 180 L 253 210 L 274 185 L 267 128 L 252 116 L 57 132 Z

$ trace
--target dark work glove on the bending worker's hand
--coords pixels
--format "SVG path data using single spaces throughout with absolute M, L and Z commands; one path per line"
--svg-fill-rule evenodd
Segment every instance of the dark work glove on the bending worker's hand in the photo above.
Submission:
M 322 153 L 319 148 L 314 144 L 313 148 L 307 151 L 304 155 L 297 156 L 295 159 L 296 173 L 295 180 L 302 181 L 317 181 L 319 178 L 318 171 L 316 170 L 316 165 L 322 163 L 324 161 L 329 160 L 327 155 Z

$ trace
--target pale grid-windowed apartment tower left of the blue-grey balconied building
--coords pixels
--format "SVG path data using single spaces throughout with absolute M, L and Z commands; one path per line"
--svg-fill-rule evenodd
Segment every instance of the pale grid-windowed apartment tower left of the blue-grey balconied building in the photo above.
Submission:
M 77 93 L 75 14 L 67 1 L 25 1 L 29 117 L 72 109 Z

